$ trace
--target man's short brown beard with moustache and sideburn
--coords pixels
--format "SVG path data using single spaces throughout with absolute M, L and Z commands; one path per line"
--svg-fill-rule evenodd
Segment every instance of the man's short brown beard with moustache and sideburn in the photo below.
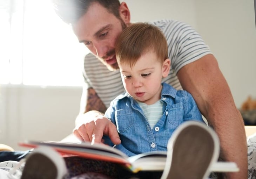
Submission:
M 120 22 L 121 22 L 122 30 L 124 30 L 124 29 L 127 27 L 127 25 L 123 22 L 123 20 L 121 19 L 121 17 L 119 17 L 119 20 L 120 20 Z M 114 64 L 112 64 L 112 65 L 109 65 L 109 64 L 104 60 L 104 59 L 106 59 L 106 58 L 108 58 L 108 57 L 110 57 L 110 56 L 114 56 L 114 55 L 115 55 L 115 49 L 111 49 L 111 50 L 109 50 L 109 51 L 106 53 L 106 55 L 103 56 L 102 58 L 99 57 L 99 56 L 96 56 L 96 57 L 101 61 L 101 63 L 103 63 L 103 64 L 108 68 L 108 70 L 110 70 L 110 71 L 115 71 L 115 70 L 119 69 L 117 62 L 114 63 Z

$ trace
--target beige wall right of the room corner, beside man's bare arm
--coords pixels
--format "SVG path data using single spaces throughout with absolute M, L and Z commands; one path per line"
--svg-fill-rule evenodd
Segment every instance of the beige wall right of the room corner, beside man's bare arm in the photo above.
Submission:
M 256 98 L 256 29 L 253 0 L 196 0 L 198 31 L 216 56 L 236 106 Z

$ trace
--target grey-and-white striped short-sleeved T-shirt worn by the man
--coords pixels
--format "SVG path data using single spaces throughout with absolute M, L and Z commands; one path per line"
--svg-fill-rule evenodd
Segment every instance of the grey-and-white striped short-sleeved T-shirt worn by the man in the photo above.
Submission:
M 176 76 L 184 65 L 210 54 L 209 47 L 202 37 L 191 26 L 174 20 L 160 20 L 149 22 L 159 27 L 168 43 L 168 55 L 171 60 L 171 69 L 162 82 L 168 83 L 176 90 L 182 90 Z M 109 71 L 93 54 L 86 55 L 84 60 L 83 77 L 85 87 L 92 87 L 106 107 L 116 96 L 125 92 L 120 71 Z

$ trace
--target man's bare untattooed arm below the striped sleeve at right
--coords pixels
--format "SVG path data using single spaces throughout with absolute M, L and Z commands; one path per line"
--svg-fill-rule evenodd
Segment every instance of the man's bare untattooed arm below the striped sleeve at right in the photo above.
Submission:
M 236 162 L 240 172 L 230 179 L 247 178 L 247 144 L 244 123 L 231 91 L 211 54 L 183 66 L 177 73 L 184 90 L 194 97 L 200 112 L 220 138 L 220 157 Z

